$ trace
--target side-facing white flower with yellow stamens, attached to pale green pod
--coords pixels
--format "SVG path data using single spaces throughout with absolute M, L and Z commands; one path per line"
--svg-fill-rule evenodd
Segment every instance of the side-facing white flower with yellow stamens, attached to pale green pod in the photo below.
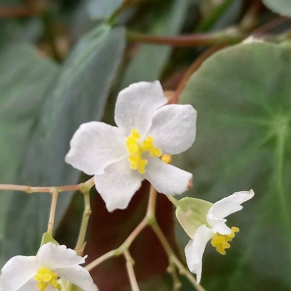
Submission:
M 229 195 L 215 202 L 207 213 L 207 223 L 199 226 L 192 240 L 185 247 L 187 264 L 192 273 L 197 275 L 197 282 L 200 282 L 202 272 L 202 256 L 206 243 L 211 239 L 211 245 L 222 255 L 230 247 L 230 242 L 238 227 L 229 228 L 226 226 L 225 217 L 242 209 L 241 204 L 254 196 L 254 191 L 241 191 Z

